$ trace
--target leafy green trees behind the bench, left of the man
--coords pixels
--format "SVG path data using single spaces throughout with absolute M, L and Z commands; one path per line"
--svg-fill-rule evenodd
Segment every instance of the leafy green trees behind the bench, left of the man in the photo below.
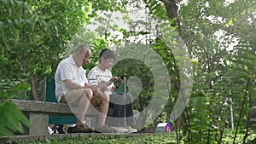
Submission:
M 43 100 L 44 78 L 55 72 L 67 42 L 89 20 L 91 5 L 77 1 L 1 1 L 1 78 L 27 75 L 32 99 Z

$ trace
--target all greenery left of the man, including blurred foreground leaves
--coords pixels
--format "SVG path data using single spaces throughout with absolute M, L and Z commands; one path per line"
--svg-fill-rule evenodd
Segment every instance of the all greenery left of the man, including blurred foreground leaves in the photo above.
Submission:
M 24 132 L 21 123 L 29 122 L 10 99 L 43 99 L 44 77 L 53 73 L 67 41 L 88 20 L 88 2 L 68 2 L 0 1 L 0 136 Z

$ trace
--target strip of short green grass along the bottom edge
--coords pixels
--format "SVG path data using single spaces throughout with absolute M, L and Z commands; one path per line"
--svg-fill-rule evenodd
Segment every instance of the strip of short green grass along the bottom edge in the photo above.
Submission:
M 221 143 L 230 144 L 233 142 L 234 134 L 231 131 L 226 131 L 224 138 Z M 244 135 L 237 135 L 236 143 L 240 143 L 243 140 Z M 254 144 L 256 134 L 251 133 L 247 137 L 246 144 Z M 18 142 L 20 144 L 20 142 Z M 194 139 L 193 141 L 188 141 L 186 137 L 180 137 L 180 140 L 176 141 L 176 135 L 172 133 L 137 133 L 137 134 L 127 134 L 127 135 L 107 135 L 107 134 L 92 134 L 92 135 L 77 135 L 69 136 L 66 139 L 59 140 L 46 139 L 44 141 L 32 141 L 24 142 L 23 144 L 197 144 L 197 143 L 207 143 L 207 139 L 198 141 Z M 210 141 L 211 144 L 217 144 L 218 141 Z

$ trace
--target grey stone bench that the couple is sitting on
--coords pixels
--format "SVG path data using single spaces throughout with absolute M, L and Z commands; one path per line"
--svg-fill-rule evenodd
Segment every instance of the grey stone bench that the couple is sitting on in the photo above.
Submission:
M 65 103 L 47 101 L 12 100 L 20 111 L 24 112 L 30 121 L 30 127 L 25 128 L 25 135 L 48 134 L 49 115 L 74 116 Z M 89 107 L 87 117 L 97 117 L 97 110 Z

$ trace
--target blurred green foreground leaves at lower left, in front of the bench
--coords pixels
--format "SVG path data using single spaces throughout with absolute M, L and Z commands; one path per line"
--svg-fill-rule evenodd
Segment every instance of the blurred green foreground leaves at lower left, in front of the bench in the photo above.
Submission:
M 15 132 L 23 133 L 23 125 L 29 126 L 29 121 L 11 99 L 24 98 L 24 92 L 29 89 L 29 84 L 20 80 L 2 80 L 0 89 L 0 138 L 3 135 L 12 136 Z

